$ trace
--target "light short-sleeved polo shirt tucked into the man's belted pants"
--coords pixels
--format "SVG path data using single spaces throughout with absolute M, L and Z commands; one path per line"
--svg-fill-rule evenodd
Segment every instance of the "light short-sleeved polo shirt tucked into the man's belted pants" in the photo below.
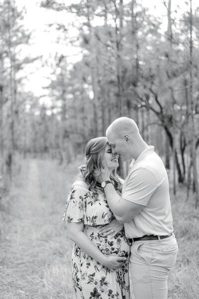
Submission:
M 153 146 L 148 146 L 130 164 L 122 198 L 144 206 L 134 219 L 124 224 L 127 238 L 166 236 L 173 232 L 168 176 Z

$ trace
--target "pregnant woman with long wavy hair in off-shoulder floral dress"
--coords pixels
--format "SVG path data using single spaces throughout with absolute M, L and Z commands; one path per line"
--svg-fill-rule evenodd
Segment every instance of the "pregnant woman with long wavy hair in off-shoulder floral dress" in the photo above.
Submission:
M 91 139 L 86 146 L 86 165 L 80 167 L 82 175 L 69 192 L 63 217 L 75 243 L 72 275 L 77 299 L 129 299 L 129 242 L 97 182 L 103 163 L 121 193 L 118 155 L 112 155 L 106 137 Z

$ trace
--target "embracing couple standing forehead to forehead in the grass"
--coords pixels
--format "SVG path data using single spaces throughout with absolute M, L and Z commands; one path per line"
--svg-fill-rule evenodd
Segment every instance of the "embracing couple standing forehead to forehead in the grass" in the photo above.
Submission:
M 173 234 L 165 166 L 127 117 L 106 137 L 91 139 L 63 219 L 74 242 L 72 276 L 77 299 L 167 299 L 168 274 L 178 245 Z M 123 181 L 118 155 L 132 160 Z

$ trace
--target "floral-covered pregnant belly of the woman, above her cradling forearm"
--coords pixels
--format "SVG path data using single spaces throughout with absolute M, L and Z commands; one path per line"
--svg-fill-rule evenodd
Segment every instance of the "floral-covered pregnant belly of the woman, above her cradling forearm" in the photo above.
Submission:
M 100 235 L 100 227 L 87 227 L 85 233 L 94 242 L 104 255 L 118 255 L 126 258 L 130 252 L 129 242 L 126 240 L 124 231 L 120 231 L 112 239 L 109 236 Z

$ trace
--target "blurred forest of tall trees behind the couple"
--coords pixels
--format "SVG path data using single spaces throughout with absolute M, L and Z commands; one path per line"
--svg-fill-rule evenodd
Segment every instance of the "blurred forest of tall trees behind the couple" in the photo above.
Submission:
M 41 1 L 40 9 L 74 17 L 70 27 L 49 23 L 58 44 L 80 49 L 81 60 L 71 64 L 67 50 L 46 60 L 22 55 L 32 42 L 25 9 L 0 0 L 1 176 L 11 180 L 19 154 L 73 162 L 89 139 L 128 116 L 162 157 L 174 194 L 184 184 L 198 206 L 199 7 L 178 2 L 161 1 L 162 18 L 141 0 Z M 71 36 L 72 27 L 78 34 Z M 41 59 L 52 69 L 43 86 L 48 103 L 23 85 L 23 69 Z M 126 164 L 119 171 L 125 177 Z

